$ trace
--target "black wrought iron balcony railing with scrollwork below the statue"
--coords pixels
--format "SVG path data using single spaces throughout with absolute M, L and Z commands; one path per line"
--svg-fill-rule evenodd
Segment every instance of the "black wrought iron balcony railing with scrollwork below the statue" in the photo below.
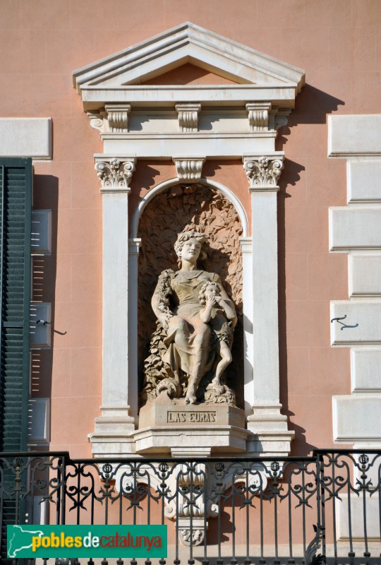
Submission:
M 0 453 L 1 563 L 25 562 L 6 559 L 6 525 L 24 523 L 167 524 L 160 565 L 380 564 L 381 452 L 197 460 Z

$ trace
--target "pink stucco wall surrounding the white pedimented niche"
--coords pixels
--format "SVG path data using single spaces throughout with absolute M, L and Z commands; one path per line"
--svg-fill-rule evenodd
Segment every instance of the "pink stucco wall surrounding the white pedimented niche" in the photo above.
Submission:
M 326 115 L 380 111 L 380 2 L 1 0 L 1 115 L 53 119 L 53 160 L 35 163 L 34 206 L 53 210 L 53 254 L 44 260 L 40 299 L 54 303 L 54 328 L 66 334 L 54 333 L 52 351 L 41 352 L 34 394 L 52 397 L 51 448 L 74 457 L 90 456 L 87 434 L 101 404 L 102 198 L 93 154 L 102 143 L 71 72 L 185 20 L 306 71 L 277 141 L 286 153 L 281 401 L 296 430 L 295 454 L 332 446 L 331 396 L 350 392 L 349 350 L 329 346 L 329 300 L 348 294 L 346 255 L 328 252 L 328 207 L 345 205 L 346 171 L 344 161 L 327 159 Z M 157 164 L 155 182 L 170 167 Z M 205 171 L 236 185 L 248 205 L 241 164 L 213 172 L 207 163 Z M 147 188 L 138 167 L 131 202 Z

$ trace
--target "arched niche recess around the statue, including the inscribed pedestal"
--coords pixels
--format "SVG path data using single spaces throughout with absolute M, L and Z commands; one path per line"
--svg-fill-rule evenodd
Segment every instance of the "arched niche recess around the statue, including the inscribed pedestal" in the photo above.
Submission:
M 207 256 L 198 267 L 218 273 L 234 303 L 237 323 L 231 347 L 233 361 L 223 375 L 223 390 L 211 386 L 209 371 L 200 381 L 198 403 L 186 405 L 183 391 L 175 398 L 163 386 L 169 367 L 151 298 L 157 278 L 164 269 L 179 269 L 174 251 L 177 235 L 185 227 L 200 230 L 207 237 Z M 138 262 L 138 357 L 140 359 L 140 412 L 136 449 L 139 452 L 169 451 L 193 446 L 210 451 L 245 451 L 243 410 L 243 303 L 241 220 L 233 204 L 217 189 L 205 184 L 175 184 L 158 194 L 145 207 L 139 222 L 141 239 Z M 159 326 L 158 326 L 159 327 Z M 152 336 L 148 337 L 147 336 Z M 166 429 L 171 427 L 171 430 Z M 234 427 L 234 429 L 233 429 Z M 174 429 L 175 428 L 175 429 Z M 143 432 L 144 429 L 144 432 Z M 238 432 L 238 429 L 240 430 Z M 216 436 L 219 440 L 216 442 Z M 186 436 L 186 439 L 185 437 Z

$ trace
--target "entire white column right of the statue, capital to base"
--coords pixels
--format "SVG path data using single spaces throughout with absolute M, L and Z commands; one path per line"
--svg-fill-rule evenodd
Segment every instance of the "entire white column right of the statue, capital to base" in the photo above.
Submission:
M 244 157 L 243 168 L 251 194 L 253 274 L 253 385 L 245 386 L 251 405 L 248 429 L 253 432 L 249 451 L 290 451 L 294 432 L 287 429 L 279 403 L 278 237 L 277 192 L 283 153 Z

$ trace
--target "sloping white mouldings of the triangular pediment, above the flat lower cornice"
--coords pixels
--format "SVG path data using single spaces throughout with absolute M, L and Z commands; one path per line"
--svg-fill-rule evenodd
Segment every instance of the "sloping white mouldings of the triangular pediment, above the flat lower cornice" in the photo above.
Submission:
M 96 61 L 73 73 L 78 91 L 128 89 L 154 85 L 162 77 L 184 65 L 195 66 L 235 85 L 292 88 L 294 96 L 304 84 L 304 72 L 222 35 L 183 23 L 133 47 Z M 132 88 L 133 90 L 133 88 Z

